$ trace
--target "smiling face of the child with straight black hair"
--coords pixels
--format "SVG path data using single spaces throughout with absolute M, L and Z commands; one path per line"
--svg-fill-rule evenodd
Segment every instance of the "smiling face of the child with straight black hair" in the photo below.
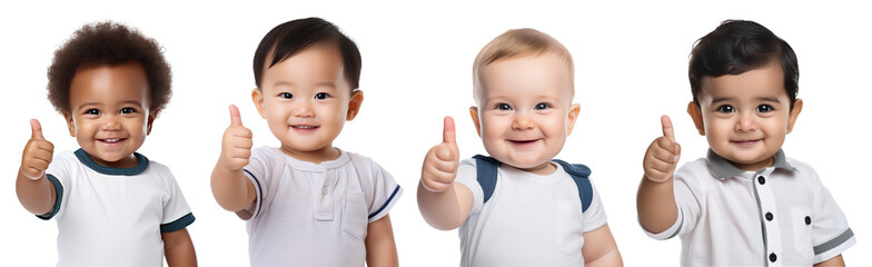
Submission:
M 266 69 L 261 85 L 252 100 L 285 154 L 313 162 L 339 157 L 333 140 L 357 115 L 363 92 L 351 92 L 334 47 L 297 52 Z

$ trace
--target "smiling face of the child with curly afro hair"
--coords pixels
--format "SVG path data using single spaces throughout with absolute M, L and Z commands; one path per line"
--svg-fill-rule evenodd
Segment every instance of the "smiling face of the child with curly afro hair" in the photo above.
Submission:
M 155 115 L 142 66 L 136 62 L 80 69 L 70 83 L 63 116 L 70 135 L 95 162 L 133 167 Z

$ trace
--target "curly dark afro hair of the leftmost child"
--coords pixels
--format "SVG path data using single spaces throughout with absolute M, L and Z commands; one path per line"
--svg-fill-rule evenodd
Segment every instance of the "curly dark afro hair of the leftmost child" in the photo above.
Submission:
M 69 112 L 70 83 L 76 71 L 139 62 L 151 89 L 151 112 L 160 112 L 172 95 L 172 73 L 160 44 L 137 29 L 111 21 L 86 24 L 54 51 L 48 70 L 48 98 L 59 112 Z

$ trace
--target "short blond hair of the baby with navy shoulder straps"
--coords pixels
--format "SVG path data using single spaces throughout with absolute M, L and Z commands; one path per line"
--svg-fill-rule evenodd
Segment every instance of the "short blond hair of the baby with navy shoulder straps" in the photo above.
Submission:
M 566 62 L 569 68 L 569 80 L 574 85 L 575 67 L 573 66 L 572 55 L 569 55 L 569 50 L 566 47 L 542 31 L 531 28 L 513 29 L 494 38 L 475 57 L 475 62 L 473 63 L 473 98 L 478 101 L 477 92 L 482 89 L 478 72 L 485 66 L 511 58 L 536 57 L 548 52 L 556 55 Z M 575 95 L 574 88 L 572 89 L 572 95 Z

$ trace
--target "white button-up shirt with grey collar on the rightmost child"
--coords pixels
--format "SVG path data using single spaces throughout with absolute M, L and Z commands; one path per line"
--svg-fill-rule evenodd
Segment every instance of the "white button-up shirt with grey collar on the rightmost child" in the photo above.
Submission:
M 844 214 L 806 164 L 775 155 L 743 171 L 711 149 L 674 175 L 682 266 L 811 266 L 854 245 Z

